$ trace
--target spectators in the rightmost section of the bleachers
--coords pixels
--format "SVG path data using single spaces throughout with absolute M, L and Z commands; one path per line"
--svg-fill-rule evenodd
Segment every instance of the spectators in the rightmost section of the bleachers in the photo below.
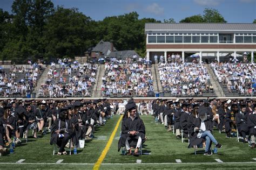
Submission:
M 255 63 L 211 63 L 213 72 L 219 83 L 224 84 L 230 93 L 241 95 L 252 93 L 251 84 L 255 79 Z

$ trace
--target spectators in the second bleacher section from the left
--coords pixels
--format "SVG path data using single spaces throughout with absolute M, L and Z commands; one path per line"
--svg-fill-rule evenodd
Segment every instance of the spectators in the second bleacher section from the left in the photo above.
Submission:
M 49 97 L 90 97 L 90 90 L 95 84 L 97 65 L 66 60 L 58 61 L 59 67 L 51 63 L 47 80 L 39 90 L 39 96 Z

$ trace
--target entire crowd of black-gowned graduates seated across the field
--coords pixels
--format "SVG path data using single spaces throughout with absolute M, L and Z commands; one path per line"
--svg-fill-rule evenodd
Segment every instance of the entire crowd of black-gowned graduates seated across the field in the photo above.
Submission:
M 119 111 L 121 105 L 125 110 Z M 123 107 L 122 107 L 123 108 Z M 144 109 L 146 110 L 144 110 Z M 147 139 L 140 115 L 152 115 L 167 131 L 174 131 L 178 139 L 189 139 L 188 147 L 205 147 L 205 155 L 212 155 L 211 144 L 222 147 L 213 136 L 213 128 L 225 132 L 223 138 L 235 137 L 255 147 L 256 102 L 246 100 L 219 100 L 194 98 L 134 102 L 86 100 L 16 100 L 0 102 L 0 153 L 12 143 L 17 145 L 32 130 L 33 138 L 51 133 L 50 144 L 59 146 L 58 155 L 67 154 L 65 146 L 78 145 L 79 140 L 91 140 L 95 128 L 106 123 L 113 114 L 124 114 L 118 151 L 125 147 L 126 154 L 139 154 Z M 13 139 L 12 139 L 13 138 Z M 23 141 L 22 141 L 23 140 Z M 228 139 L 227 139 L 228 140 Z

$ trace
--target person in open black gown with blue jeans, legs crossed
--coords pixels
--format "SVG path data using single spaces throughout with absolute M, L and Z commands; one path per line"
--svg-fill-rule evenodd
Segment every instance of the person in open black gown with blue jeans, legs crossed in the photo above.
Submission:
M 191 133 L 192 137 L 190 139 L 190 144 L 188 147 L 193 147 L 194 145 L 199 145 L 203 143 L 205 140 L 205 153 L 204 155 L 212 155 L 211 153 L 211 145 L 212 142 L 217 147 L 222 147 L 221 144 L 214 138 L 212 132 L 212 123 L 209 119 L 207 119 L 207 111 L 208 109 L 205 107 L 200 107 L 198 109 L 199 118 L 197 118 L 193 125 L 193 132 Z

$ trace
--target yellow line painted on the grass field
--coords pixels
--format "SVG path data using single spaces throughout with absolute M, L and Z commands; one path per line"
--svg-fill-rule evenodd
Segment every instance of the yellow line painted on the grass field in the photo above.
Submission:
M 112 144 L 112 142 L 113 142 L 114 136 L 116 135 L 118 126 L 119 126 L 120 122 L 122 121 L 122 118 L 123 118 L 123 115 L 119 118 L 119 120 L 118 120 L 118 122 L 117 122 L 117 125 L 116 125 L 116 127 L 114 127 L 114 131 L 112 132 L 112 134 L 111 134 L 111 136 L 110 136 L 110 139 L 109 139 L 109 141 L 108 141 L 107 144 L 106 144 L 106 147 L 105 147 L 104 150 L 102 151 L 102 154 L 100 154 L 100 157 L 99 157 L 99 159 L 97 160 L 97 162 L 96 162 L 95 166 L 93 167 L 93 169 L 95 169 L 95 170 L 97 169 L 97 170 L 98 170 L 100 164 L 102 164 L 104 158 L 106 157 L 106 154 L 107 154 L 107 152 L 109 151 L 109 148 L 110 148 L 110 146 L 111 146 L 111 144 Z

